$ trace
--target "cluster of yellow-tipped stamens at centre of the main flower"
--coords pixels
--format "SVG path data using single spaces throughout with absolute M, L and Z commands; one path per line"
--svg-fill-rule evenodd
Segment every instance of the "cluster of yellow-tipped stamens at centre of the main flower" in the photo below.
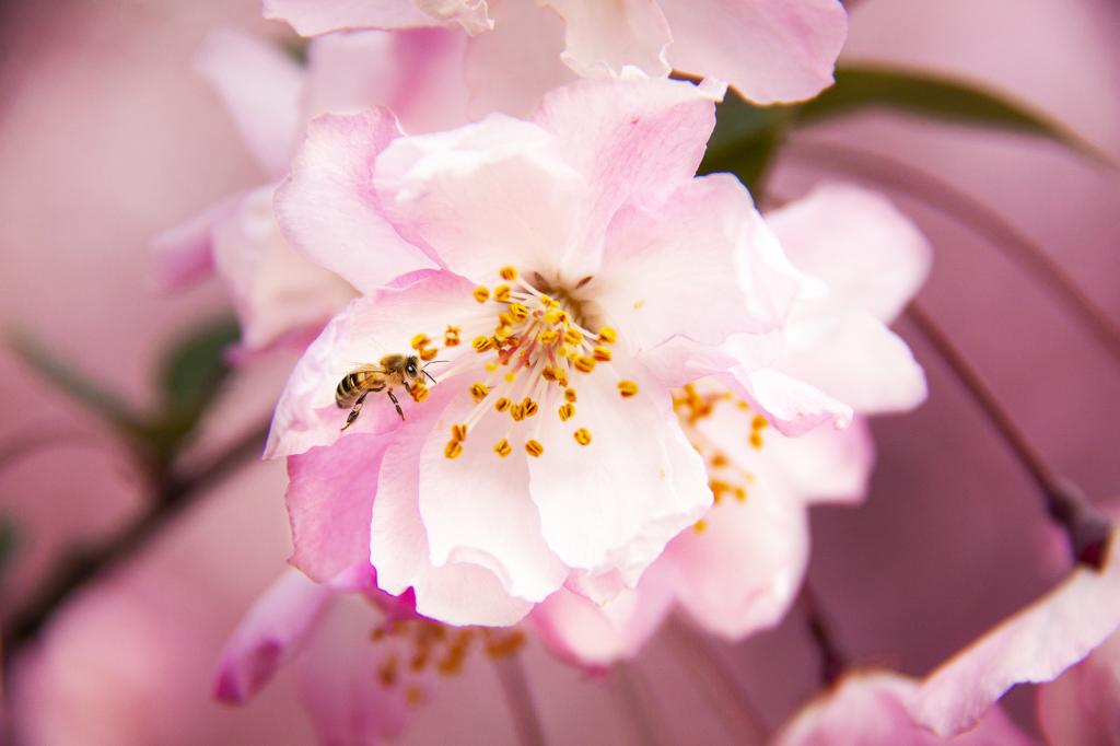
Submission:
M 609 326 L 594 332 L 585 326 L 584 301 L 576 292 L 586 280 L 572 290 L 551 288 L 536 274 L 530 282 L 513 267 L 502 268 L 498 278 L 493 287 L 474 289 L 482 313 L 449 325 L 444 336 L 446 347 L 469 341 L 474 352 L 459 355 L 440 372 L 440 379 L 469 370 L 478 372 L 468 388 L 475 407 L 461 422 L 451 426 L 444 449 L 449 459 L 463 454 L 468 435 L 487 416 L 507 418 L 505 435 L 488 444 L 494 454 L 501 458 L 510 456 L 514 450 L 514 428 L 525 422 L 528 427 L 516 435 L 523 436 L 526 454 L 541 457 L 542 418 L 557 417 L 561 422 L 576 418 L 581 376 L 613 376 L 615 389 L 624 399 L 638 392 L 637 383 L 622 379 L 612 366 L 617 332 Z M 417 335 L 412 342 L 422 360 L 436 356 L 437 349 L 426 335 Z M 422 385 L 413 386 L 411 393 L 417 401 L 427 397 Z M 590 446 L 591 430 L 572 425 L 575 441 Z

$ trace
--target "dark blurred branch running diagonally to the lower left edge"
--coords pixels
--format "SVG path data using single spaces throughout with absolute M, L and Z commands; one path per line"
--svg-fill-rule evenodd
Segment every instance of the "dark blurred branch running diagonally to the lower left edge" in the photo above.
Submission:
M 41 586 L 43 590 L 8 618 L 2 636 L 7 660 L 10 662 L 24 644 L 35 638 L 71 594 L 133 557 L 207 488 L 230 476 L 249 458 L 259 456 L 267 436 L 267 425 L 254 428 L 203 467 L 169 479 L 147 513 L 99 547 L 64 561 Z

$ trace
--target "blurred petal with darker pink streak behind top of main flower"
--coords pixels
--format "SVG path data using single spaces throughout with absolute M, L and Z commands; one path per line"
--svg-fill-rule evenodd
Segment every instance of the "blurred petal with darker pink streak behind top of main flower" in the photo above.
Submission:
M 307 108 L 356 113 L 383 105 L 407 132 L 446 130 L 466 122 L 463 80 L 466 36 L 421 28 L 329 34 L 308 45 Z

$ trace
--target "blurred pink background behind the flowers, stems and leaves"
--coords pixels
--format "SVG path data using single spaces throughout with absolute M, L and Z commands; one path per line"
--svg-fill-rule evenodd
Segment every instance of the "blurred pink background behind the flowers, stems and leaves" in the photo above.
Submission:
M 161 345 L 225 307 L 216 282 L 156 290 L 150 237 L 261 181 L 217 99 L 190 66 L 206 30 L 282 35 L 256 0 L 37 0 L 0 10 L 0 319 L 75 365 L 152 400 Z M 1110 0 L 862 0 L 844 58 L 898 62 L 982 81 L 1060 118 L 1120 159 L 1120 6 Z M 1048 142 L 860 115 L 797 140 L 866 147 L 936 172 L 995 207 L 1120 316 L 1120 177 Z M 773 189 L 795 196 L 822 171 L 793 160 Z M 828 174 L 828 178 L 836 178 Z M 991 245 L 943 215 L 899 204 L 936 251 L 922 295 L 1051 463 L 1094 498 L 1120 497 L 1114 360 Z M 921 675 L 1065 570 L 1039 496 L 940 361 L 905 325 L 931 382 L 914 414 L 874 426 L 879 463 L 859 510 L 813 514 L 810 584 L 843 651 Z M 267 414 L 290 360 L 241 375 L 206 423 L 220 448 Z M 18 571 L 0 612 L 69 542 L 104 535 L 143 498 L 96 422 L 0 351 L 0 453 L 29 435 L 84 439 L 4 464 L 0 515 L 16 517 Z M 252 465 L 193 509 L 150 552 L 74 598 L 22 670 L 32 744 L 311 743 L 281 675 L 252 705 L 209 699 L 217 651 L 284 567 L 282 466 Z M 361 644 L 356 641 L 356 644 Z M 772 727 L 815 687 L 796 613 L 725 651 Z M 534 697 L 556 743 L 640 743 L 616 684 L 586 681 L 539 650 Z M 665 640 L 637 663 L 665 742 L 730 740 Z M 484 692 L 485 696 L 479 696 Z M 1033 727 L 1024 691 L 1005 700 Z M 578 712 L 579 717 L 572 717 Z M 470 666 L 418 710 L 405 743 L 513 743 L 493 671 Z

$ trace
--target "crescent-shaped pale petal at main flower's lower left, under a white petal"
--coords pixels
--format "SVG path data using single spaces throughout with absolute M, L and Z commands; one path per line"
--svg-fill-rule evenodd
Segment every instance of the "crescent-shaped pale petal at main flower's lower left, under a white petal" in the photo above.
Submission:
M 420 449 L 448 401 L 467 385 L 461 377 L 437 385 L 426 407 L 389 446 L 373 506 L 371 556 L 379 586 L 394 595 L 412 588 L 418 613 L 448 624 L 510 625 L 532 605 L 512 597 L 487 567 L 459 561 L 433 565 L 420 514 Z

